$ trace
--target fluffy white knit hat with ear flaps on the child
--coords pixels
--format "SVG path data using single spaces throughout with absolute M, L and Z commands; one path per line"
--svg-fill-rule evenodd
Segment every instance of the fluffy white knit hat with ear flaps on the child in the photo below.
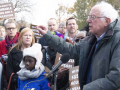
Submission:
M 25 56 L 31 56 L 36 59 L 35 69 L 38 70 L 40 68 L 41 61 L 43 58 L 43 54 L 41 52 L 41 45 L 38 43 L 35 43 L 35 44 L 33 44 L 32 47 L 24 49 L 23 50 L 23 58 Z M 20 63 L 20 68 L 25 68 L 25 63 L 23 62 L 23 60 Z

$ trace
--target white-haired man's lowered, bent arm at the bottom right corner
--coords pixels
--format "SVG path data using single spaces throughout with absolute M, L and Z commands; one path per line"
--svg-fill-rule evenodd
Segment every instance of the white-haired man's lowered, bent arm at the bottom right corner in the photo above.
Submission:
M 118 90 L 120 88 L 120 42 L 111 56 L 109 73 L 105 78 L 84 85 L 83 90 Z

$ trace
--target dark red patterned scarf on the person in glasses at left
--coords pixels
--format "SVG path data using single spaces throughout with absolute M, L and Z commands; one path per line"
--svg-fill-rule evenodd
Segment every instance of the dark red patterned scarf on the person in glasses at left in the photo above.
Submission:
M 17 33 L 12 40 L 10 39 L 9 36 L 6 36 L 6 37 L 5 37 L 5 42 L 6 42 L 5 47 L 6 47 L 7 51 L 9 51 L 10 48 L 11 48 L 14 44 L 16 44 L 16 43 L 18 42 L 19 34 L 20 34 L 20 33 Z

